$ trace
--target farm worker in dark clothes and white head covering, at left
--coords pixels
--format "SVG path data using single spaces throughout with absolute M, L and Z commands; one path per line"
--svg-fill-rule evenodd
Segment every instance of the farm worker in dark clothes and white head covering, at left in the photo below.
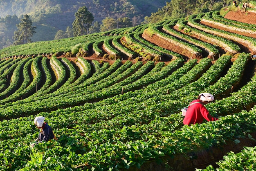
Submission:
M 34 147 L 34 145 L 38 142 L 47 142 L 51 141 L 52 139 L 57 140 L 52 128 L 45 122 L 45 117 L 37 116 L 34 120 L 34 124 L 39 128 L 40 132 L 38 138 L 35 140 L 35 143 L 31 144 L 31 147 Z

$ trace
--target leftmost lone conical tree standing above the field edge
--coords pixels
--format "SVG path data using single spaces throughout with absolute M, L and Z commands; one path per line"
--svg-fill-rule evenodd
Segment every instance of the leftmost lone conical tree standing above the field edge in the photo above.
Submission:
M 16 25 L 18 31 L 14 31 L 14 45 L 31 43 L 31 37 L 36 33 L 36 31 L 34 31 L 36 27 L 32 26 L 32 21 L 29 19 L 28 15 L 25 15 L 20 21 L 21 22 Z

